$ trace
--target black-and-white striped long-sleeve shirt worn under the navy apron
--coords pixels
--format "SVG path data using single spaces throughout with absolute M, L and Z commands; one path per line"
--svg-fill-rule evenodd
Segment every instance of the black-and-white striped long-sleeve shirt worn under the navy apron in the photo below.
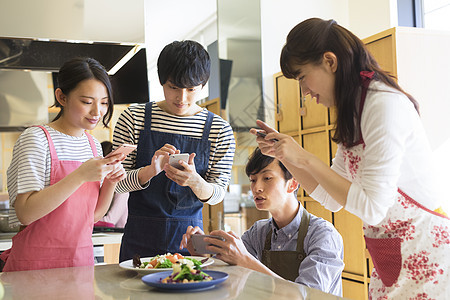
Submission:
M 201 139 L 207 115 L 208 110 L 203 109 L 193 116 L 175 116 L 164 112 L 156 102 L 153 102 L 151 128 L 153 131 L 183 134 Z M 115 149 L 123 143 L 137 145 L 139 134 L 144 130 L 144 124 L 145 104 L 128 107 L 120 115 L 114 128 L 113 148 Z M 231 179 L 231 166 L 235 151 L 231 126 L 217 115 L 214 115 L 212 121 L 209 141 L 211 141 L 211 149 L 208 170 L 204 179 L 213 185 L 214 192 L 207 203 L 214 205 L 222 201 L 225 196 L 225 189 Z M 153 153 L 149 153 L 149 155 L 153 156 Z M 122 164 L 128 176 L 125 180 L 119 182 L 116 188 L 117 192 L 132 192 L 148 187 L 151 180 L 145 185 L 139 183 L 138 172 L 140 168 L 136 168 L 136 151 L 129 154 Z

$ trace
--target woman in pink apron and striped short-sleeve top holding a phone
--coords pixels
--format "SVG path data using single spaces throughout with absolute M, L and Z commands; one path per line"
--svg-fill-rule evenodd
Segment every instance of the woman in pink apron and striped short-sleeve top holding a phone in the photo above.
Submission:
M 58 85 L 60 113 L 48 125 L 25 129 L 14 145 L 8 192 L 14 217 L 26 226 L 0 256 L 5 272 L 93 265 L 94 222 L 126 177 L 123 155 L 98 157 L 100 143 L 86 132 L 112 115 L 104 67 L 91 58 L 71 59 Z

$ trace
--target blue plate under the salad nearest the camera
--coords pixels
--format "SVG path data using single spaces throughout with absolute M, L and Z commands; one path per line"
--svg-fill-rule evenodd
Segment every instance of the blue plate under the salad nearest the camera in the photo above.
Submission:
M 148 274 L 142 277 L 142 281 L 151 287 L 163 289 L 163 290 L 198 290 L 209 289 L 215 285 L 224 282 L 228 278 L 228 274 L 220 271 L 205 271 L 213 279 L 209 281 L 197 281 L 187 283 L 162 283 L 161 279 L 171 275 L 172 272 L 161 272 L 155 274 Z

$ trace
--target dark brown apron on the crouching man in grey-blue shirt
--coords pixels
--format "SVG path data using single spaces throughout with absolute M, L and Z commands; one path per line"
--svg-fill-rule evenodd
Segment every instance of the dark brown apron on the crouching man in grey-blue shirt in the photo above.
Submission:
M 298 228 L 296 251 L 271 251 L 272 230 L 267 234 L 261 262 L 284 279 L 295 281 L 298 277 L 300 264 L 306 257 L 303 241 L 308 233 L 309 216 L 309 213 L 303 208 L 302 220 Z

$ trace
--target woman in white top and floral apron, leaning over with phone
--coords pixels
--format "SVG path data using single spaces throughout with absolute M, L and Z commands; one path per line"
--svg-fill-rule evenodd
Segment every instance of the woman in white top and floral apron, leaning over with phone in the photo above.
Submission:
M 330 168 L 264 122 L 258 137 L 312 198 L 364 222 L 371 299 L 450 297 L 450 219 L 439 208 L 432 152 L 416 100 L 335 21 L 308 19 L 289 33 L 281 69 L 302 95 L 335 106 L 338 150 Z M 251 130 L 256 134 L 256 129 Z

